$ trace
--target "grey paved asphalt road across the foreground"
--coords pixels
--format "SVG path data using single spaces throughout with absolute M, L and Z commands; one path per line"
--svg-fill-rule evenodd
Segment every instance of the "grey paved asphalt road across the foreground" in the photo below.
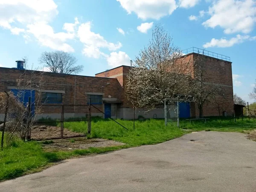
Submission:
M 2 182 L 0 191 L 256 192 L 256 142 L 244 136 L 197 132 L 158 145 L 67 160 Z

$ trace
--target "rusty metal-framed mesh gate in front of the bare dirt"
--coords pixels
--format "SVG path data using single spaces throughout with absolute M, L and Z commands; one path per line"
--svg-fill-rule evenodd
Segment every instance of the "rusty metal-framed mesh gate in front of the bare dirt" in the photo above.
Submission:
M 84 137 L 91 131 L 91 105 L 41 105 L 41 113 L 30 128 L 32 140 Z M 65 127 L 70 122 L 84 122 L 82 132 Z

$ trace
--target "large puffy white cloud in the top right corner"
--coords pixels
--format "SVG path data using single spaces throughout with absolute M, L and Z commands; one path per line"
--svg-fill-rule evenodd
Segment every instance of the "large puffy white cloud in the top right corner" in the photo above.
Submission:
M 207 12 L 211 17 L 202 23 L 205 27 L 220 26 L 224 33 L 249 33 L 256 22 L 254 0 L 217 0 Z

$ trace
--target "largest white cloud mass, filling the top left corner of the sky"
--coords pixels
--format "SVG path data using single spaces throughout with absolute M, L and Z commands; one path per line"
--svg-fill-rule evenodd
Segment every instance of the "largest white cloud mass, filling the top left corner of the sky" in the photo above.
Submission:
M 71 26 L 78 23 L 65 23 L 65 32 L 55 33 L 48 23 L 58 15 L 57 5 L 53 0 L 1 0 L 0 1 L 0 27 L 9 29 L 12 34 L 23 33 L 25 43 L 32 41 L 33 35 L 40 45 L 54 50 L 74 52 L 67 40 L 75 38 Z M 17 26 L 23 26 L 19 28 Z

